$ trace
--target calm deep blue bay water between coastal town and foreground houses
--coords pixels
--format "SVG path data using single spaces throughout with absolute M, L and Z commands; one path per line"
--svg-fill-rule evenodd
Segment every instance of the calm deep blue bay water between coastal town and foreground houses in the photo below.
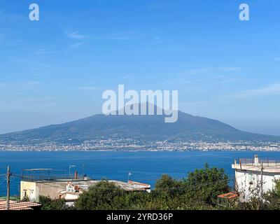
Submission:
M 7 165 L 11 172 L 21 174 L 22 169 L 53 168 L 64 170 L 69 174 L 69 165 L 76 165 L 71 169 L 84 173 L 91 179 L 116 179 L 127 181 L 130 179 L 154 186 L 156 179 L 162 174 L 169 174 L 175 179 L 186 177 L 195 168 L 204 167 L 208 163 L 211 167 L 225 169 L 232 177 L 231 165 L 235 158 L 253 158 L 258 154 L 260 158 L 278 158 L 280 152 L 0 152 L 0 175 L 6 173 Z M 6 194 L 6 180 L 0 176 L 0 195 Z M 19 195 L 20 179 L 11 178 L 11 195 Z

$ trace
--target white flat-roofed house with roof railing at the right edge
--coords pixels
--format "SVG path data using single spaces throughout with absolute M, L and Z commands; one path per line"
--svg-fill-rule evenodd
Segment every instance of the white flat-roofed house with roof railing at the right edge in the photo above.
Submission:
M 240 193 L 241 202 L 248 202 L 251 197 L 261 197 L 263 193 L 275 187 L 275 180 L 280 179 L 280 161 L 253 159 L 235 160 L 235 188 Z

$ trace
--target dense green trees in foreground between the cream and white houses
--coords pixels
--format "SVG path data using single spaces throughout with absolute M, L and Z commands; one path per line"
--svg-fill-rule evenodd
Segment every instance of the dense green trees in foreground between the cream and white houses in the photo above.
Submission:
M 217 195 L 228 190 L 224 170 L 206 165 L 182 180 L 162 175 L 151 193 L 125 192 L 101 181 L 80 195 L 75 209 L 214 209 Z

